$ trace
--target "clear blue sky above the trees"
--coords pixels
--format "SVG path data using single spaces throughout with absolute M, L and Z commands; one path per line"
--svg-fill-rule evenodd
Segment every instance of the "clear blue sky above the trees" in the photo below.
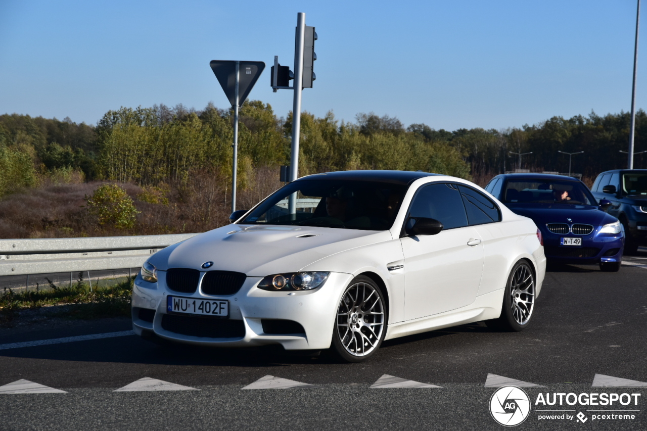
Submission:
M 317 80 L 303 90 L 303 109 L 317 116 L 333 110 L 355 121 L 373 111 L 454 130 L 619 113 L 631 103 L 635 8 L 635 0 L 0 0 L 0 114 L 96 124 L 120 106 L 228 107 L 209 61 L 252 60 L 268 67 L 250 99 L 285 116 L 292 92 L 272 93 L 269 66 L 278 55 L 292 68 L 297 12 L 319 36 Z M 645 37 L 638 107 L 647 102 Z

